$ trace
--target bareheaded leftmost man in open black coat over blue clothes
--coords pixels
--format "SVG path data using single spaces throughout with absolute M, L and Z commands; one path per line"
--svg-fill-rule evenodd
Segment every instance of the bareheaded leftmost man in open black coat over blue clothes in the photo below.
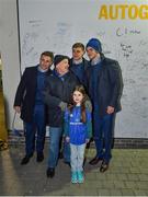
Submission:
M 25 126 L 25 157 L 21 162 L 22 165 L 29 163 L 34 153 L 36 130 L 36 161 L 44 160 L 46 117 L 43 90 L 45 78 L 52 72 L 49 68 L 53 59 L 53 53 L 44 51 L 41 55 L 39 65 L 25 69 L 16 90 L 14 109 L 16 113 L 21 113 Z

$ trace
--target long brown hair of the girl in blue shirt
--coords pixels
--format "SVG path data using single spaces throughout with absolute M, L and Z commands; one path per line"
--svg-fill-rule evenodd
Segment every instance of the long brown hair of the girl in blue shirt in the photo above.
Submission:
M 77 85 L 73 90 L 80 92 L 83 95 L 82 102 L 81 102 L 81 121 L 86 123 L 87 121 L 87 117 L 86 117 L 86 105 L 84 102 L 87 100 L 87 93 L 84 91 L 83 85 Z M 76 103 L 73 101 L 73 93 L 71 95 L 71 104 L 68 105 L 68 109 L 70 111 L 70 113 L 72 113 L 73 107 L 76 106 Z

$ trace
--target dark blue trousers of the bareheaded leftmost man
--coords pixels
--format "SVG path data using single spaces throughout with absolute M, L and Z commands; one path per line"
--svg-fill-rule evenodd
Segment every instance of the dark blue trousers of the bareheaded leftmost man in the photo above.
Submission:
M 45 134 L 46 134 L 45 113 L 44 113 L 43 105 L 35 105 L 33 121 L 24 123 L 24 126 L 25 126 L 26 155 L 33 154 L 35 147 L 36 147 L 37 153 L 42 154 L 43 149 L 44 149 L 44 142 L 45 142 Z M 36 135 L 36 138 L 35 138 L 35 135 Z

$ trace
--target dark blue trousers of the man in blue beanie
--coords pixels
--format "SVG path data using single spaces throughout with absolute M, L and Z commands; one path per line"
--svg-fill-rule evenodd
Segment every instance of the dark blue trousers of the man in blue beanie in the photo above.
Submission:
M 115 114 L 100 117 L 98 111 L 94 109 L 93 129 L 96 157 L 103 159 L 106 163 L 109 163 L 112 158 L 111 147 L 113 142 L 114 121 Z

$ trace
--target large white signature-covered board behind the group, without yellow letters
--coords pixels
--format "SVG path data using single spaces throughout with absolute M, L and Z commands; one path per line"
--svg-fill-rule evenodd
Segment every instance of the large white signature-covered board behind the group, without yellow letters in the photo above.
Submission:
M 71 56 L 75 42 L 87 44 L 89 38 L 98 37 L 105 56 L 116 59 L 123 71 L 123 111 L 117 114 L 115 137 L 148 138 L 148 22 L 139 18 L 130 20 L 127 10 L 124 20 L 119 16 L 117 20 L 98 19 L 102 4 L 139 7 L 148 4 L 148 0 L 19 2 L 22 70 L 35 65 L 45 49 Z M 144 12 L 148 12 L 148 9 Z

